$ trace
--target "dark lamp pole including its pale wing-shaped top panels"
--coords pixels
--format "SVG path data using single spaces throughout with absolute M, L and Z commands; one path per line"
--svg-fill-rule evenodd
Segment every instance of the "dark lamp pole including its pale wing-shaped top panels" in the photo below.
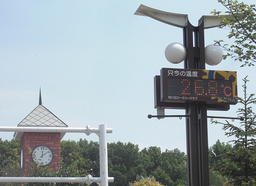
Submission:
M 218 16 L 202 16 L 198 26 L 193 26 L 186 14 L 164 12 L 144 5 L 140 5 L 135 15 L 148 16 L 182 28 L 183 45 L 186 49 L 184 69 L 205 69 L 204 29 L 221 25 L 221 18 Z M 224 17 L 229 18 L 230 15 L 225 15 Z M 177 63 L 176 60 L 173 63 Z M 208 186 L 207 102 L 186 101 L 185 112 L 186 116 L 188 116 L 186 117 L 187 185 Z

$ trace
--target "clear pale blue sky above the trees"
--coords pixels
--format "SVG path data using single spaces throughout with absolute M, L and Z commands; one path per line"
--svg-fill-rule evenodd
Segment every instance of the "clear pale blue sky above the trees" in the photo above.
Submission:
M 156 115 L 154 76 L 163 67 L 183 68 L 164 56 L 169 43 L 183 42 L 182 29 L 134 15 L 140 4 L 188 14 L 193 25 L 214 9 L 225 10 L 217 0 L 0 1 L 0 125 L 17 126 L 37 107 L 41 87 L 42 105 L 70 127 L 106 124 L 113 128 L 108 142 L 186 152 L 184 118 L 147 118 Z M 218 28 L 205 30 L 205 46 L 228 40 L 227 34 Z M 206 69 L 237 71 L 239 96 L 241 79 L 249 75 L 249 91 L 255 93 L 255 67 L 240 65 L 227 59 Z M 208 115 L 236 117 L 239 107 Z M 10 140 L 13 132 L 0 135 Z M 79 138 L 98 141 L 96 135 L 71 133 L 63 139 Z M 231 140 L 209 121 L 208 138 L 209 146 L 218 139 Z

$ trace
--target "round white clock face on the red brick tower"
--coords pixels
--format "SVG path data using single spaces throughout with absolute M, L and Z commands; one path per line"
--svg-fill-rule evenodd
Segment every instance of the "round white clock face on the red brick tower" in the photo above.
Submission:
M 46 145 L 39 145 L 32 151 L 32 160 L 41 166 L 49 165 L 53 160 L 53 152 Z

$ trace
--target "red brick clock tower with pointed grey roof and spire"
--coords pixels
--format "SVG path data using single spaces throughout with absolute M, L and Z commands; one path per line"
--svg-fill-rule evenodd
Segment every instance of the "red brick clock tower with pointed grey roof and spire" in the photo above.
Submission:
M 41 90 L 39 105 L 18 126 L 20 127 L 68 127 L 42 105 Z M 49 166 L 53 171 L 59 169 L 60 140 L 65 133 L 59 132 L 15 132 L 14 140 L 20 141 L 20 176 L 28 176 L 32 162 L 40 166 Z

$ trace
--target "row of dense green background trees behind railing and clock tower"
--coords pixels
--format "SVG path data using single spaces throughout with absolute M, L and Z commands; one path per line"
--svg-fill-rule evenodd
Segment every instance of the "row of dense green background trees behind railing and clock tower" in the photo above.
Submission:
M 1 176 L 19 176 L 19 142 L 0 140 Z M 186 185 L 186 155 L 178 149 L 161 151 L 159 147 L 142 150 L 132 143 L 108 144 L 109 176 L 114 177 L 110 185 Z M 6 166 L 6 167 L 4 167 Z M 9 174 L 10 173 L 10 174 Z M 80 139 L 78 142 L 61 141 L 60 169 L 32 163 L 28 173 L 32 177 L 99 177 L 99 143 Z M 138 176 L 139 175 L 139 176 Z M 223 185 L 223 177 L 210 172 L 211 185 Z M 136 180 L 136 181 L 135 181 Z M 19 185 L 1 183 L 1 185 Z M 24 183 L 24 186 L 86 185 L 85 183 Z M 96 186 L 92 183 L 91 186 Z

